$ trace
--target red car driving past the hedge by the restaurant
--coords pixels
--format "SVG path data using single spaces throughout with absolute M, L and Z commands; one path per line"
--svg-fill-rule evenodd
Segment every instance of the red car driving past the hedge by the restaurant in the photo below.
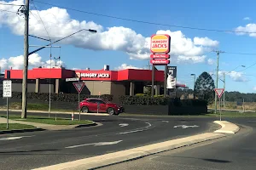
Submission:
M 107 112 L 109 115 L 119 115 L 124 112 L 124 108 L 120 105 L 108 102 L 104 99 L 88 98 L 80 102 L 80 109 L 83 113 Z

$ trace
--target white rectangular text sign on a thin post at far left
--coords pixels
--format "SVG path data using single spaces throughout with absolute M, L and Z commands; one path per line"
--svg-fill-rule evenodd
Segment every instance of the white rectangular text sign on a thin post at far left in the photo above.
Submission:
M 6 98 L 7 112 L 6 112 L 6 128 L 9 129 L 9 98 L 12 97 L 12 81 L 3 81 L 3 98 Z

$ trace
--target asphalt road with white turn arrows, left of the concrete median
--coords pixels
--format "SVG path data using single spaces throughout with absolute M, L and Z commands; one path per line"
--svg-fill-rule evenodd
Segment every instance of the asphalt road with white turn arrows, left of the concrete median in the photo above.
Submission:
M 81 117 L 100 122 L 102 126 L 0 135 L 0 169 L 45 167 L 167 139 L 212 132 L 218 128 L 212 123 L 214 118 L 83 115 Z M 176 127 L 178 125 L 192 127 Z

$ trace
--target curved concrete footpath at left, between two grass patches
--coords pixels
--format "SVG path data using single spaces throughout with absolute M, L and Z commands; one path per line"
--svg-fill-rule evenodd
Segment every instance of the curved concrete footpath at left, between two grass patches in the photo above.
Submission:
M 7 122 L 6 118 L 0 117 L 0 123 L 6 123 L 6 122 Z M 45 130 L 66 130 L 66 129 L 70 129 L 73 127 L 81 127 L 82 126 L 82 125 L 51 125 L 51 124 L 44 124 L 44 123 L 38 123 L 38 122 L 15 121 L 15 120 L 10 120 L 10 119 L 9 119 L 9 123 L 32 125 L 33 127 L 42 128 Z M 93 122 L 92 124 L 96 125 L 96 122 Z

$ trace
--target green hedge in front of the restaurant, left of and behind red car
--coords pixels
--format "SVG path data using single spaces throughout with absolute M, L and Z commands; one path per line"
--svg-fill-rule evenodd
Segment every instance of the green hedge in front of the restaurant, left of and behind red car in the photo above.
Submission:
M 20 92 L 13 92 L 14 99 L 22 99 L 22 93 Z M 51 94 L 51 100 L 52 101 L 63 101 L 63 102 L 76 102 L 78 101 L 79 94 Z M 86 98 L 99 98 L 98 95 L 85 95 L 80 94 L 80 99 L 86 99 Z M 101 99 L 106 99 L 108 101 L 113 100 L 113 95 L 109 94 L 102 94 Z M 42 99 L 44 101 L 49 101 L 49 94 L 45 93 L 27 93 L 27 99 Z

